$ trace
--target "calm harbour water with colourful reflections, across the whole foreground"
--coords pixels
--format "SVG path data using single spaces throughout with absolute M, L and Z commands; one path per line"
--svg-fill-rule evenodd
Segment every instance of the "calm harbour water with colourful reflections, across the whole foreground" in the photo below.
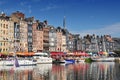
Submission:
M 0 66 L 0 80 L 120 80 L 120 63 L 92 62 Z

